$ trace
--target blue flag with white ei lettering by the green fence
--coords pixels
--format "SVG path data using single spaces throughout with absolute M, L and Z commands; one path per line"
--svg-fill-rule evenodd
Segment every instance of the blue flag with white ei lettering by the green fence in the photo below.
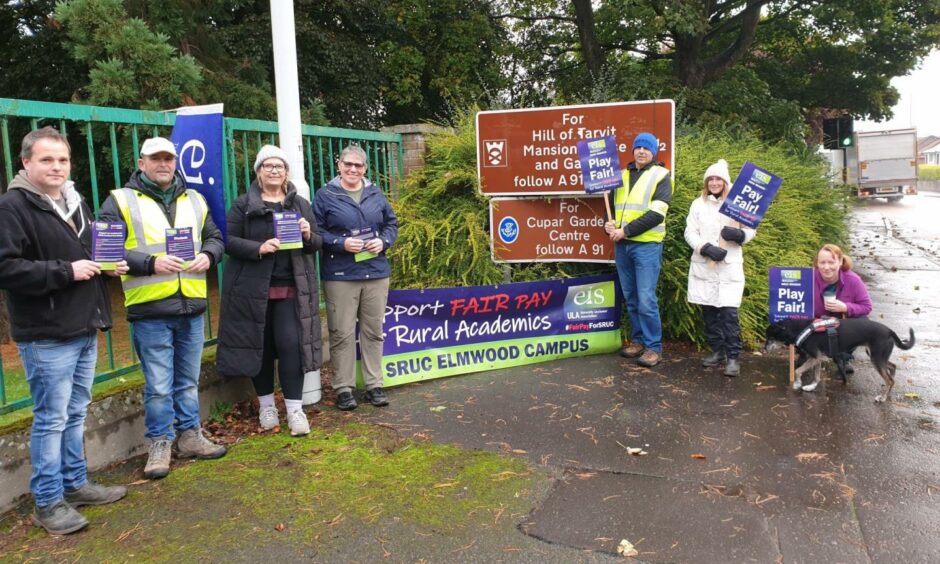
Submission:
M 179 108 L 170 141 L 176 146 L 176 168 L 186 186 L 206 199 L 212 221 L 225 237 L 222 121 L 222 104 Z

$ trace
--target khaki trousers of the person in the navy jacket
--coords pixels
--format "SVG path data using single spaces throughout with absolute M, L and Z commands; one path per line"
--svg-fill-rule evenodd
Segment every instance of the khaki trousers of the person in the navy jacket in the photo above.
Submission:
M 366 389 L 382 386 L 382 322 L 388 301 L 388 278 L 378 280 L 326 280 L 326 324 L 330 331 L 333 389 L 356 387 L 356 320 L 362 380 Z

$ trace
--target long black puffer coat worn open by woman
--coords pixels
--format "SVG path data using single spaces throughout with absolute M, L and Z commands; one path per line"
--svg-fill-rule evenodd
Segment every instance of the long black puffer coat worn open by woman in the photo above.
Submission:
M 300 212 L 310 222 L 311 237 L 302 249 L 290 253 L 297 288 L 297 318 L 300 320 L 304 372 L 323 363 L 320 332 L 320 297 L 314 253 L 323 245 L 317 234 L 310 203 L 288 185 L 284 211 Z M 228 211 L 228 260 L 222 278 L 222 308 L 219 316 L 219 346 L 216 366 L 227 377 L 253 377 L 261 369 L 264 352 L 264 323 L 274 255 L 259 257 L 261 244 L 274 237 L 272 211 L 264 206 L 261 188 L 252 183 Z

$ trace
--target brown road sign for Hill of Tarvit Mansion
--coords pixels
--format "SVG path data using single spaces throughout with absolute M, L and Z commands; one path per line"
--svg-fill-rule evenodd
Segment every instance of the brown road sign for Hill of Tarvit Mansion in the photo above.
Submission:
M 625 168 L 633 160 L 633 138 L 643 131 L 659 139 L 656 159 L 672 170 L 672 100 L 479 112 L 480 191 L 484 196 L 583 194 L 577 142 L 613 135 Z

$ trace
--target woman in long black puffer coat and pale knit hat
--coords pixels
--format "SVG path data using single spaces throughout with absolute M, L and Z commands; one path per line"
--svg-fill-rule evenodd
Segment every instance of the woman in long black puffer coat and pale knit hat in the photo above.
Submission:
M 288 180 L 290 164 L 279 147 L 265 145 L 255 159 L 255 181 L 226 216 L 228 260 L 222 277 L 216 366 L 227 377 L 249 377 L 258 394 L 259 422 L 274 429 L 274 360 L 291 435 L 306 435 L 304 374 L 322 364 L 316 252 L 323 239 L 313 209 Z M 285 212 L 297 214 L 300 241 L 276 236 Z M 295 233 L 296 233 L 295 231 Z

